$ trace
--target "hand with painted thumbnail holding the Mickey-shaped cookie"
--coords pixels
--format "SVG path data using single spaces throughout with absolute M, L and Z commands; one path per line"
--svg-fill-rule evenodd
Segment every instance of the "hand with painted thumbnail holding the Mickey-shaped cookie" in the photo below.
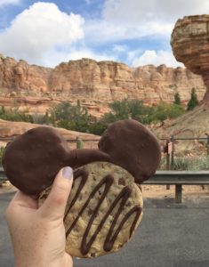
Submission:
M 37 197 L 18 191 L 6 210 L 16 267 L 72 267 L 65 252 L 63 216 L 73 181 L 72 169 L 57 174 L 52 190 L 38 208 Z

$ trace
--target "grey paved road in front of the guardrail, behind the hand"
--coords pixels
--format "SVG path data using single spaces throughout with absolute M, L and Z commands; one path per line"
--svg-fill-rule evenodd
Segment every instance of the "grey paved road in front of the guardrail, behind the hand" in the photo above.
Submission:
M 0 194 L 0 267 L 12 267 L 13 255 L 4 221 L 12 194 Z M 75 260 L 74 267 L 208 267 L 209 196 L 144 201 L 144 216 L 129 244 L 120 252 L 91 260 Z M 38 267 L 38 266 L 37 266 Z

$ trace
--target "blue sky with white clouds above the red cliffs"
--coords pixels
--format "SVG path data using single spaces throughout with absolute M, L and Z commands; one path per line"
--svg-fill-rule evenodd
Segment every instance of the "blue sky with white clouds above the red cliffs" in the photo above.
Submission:
M 177 67 L 174 24 L 203 13 L 209 0 L 0 0 L 0 53 L 46 67 L 81 58 Z

